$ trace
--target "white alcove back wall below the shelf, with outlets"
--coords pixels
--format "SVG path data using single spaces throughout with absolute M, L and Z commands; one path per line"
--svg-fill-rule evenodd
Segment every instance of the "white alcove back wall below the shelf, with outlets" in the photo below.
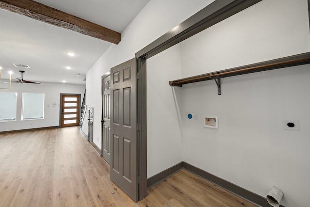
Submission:
M 184 85 L 184 161 L 265 197 L 273 185 L 285 207 L 310 206 L 309 65 Z M 199 114 L 188 120 L 186 114 Z M 202 116 L 218 117 L 218 129 Z M 299 120 L 300 131 L 283 120 Z

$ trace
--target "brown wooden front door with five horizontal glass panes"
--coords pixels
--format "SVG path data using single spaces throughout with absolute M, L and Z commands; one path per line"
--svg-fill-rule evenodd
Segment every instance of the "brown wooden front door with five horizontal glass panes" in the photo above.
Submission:
M 62 127 L 78 126 L 79 120 L 79 97 L 80 95 L 61 95 L 62 96 Z

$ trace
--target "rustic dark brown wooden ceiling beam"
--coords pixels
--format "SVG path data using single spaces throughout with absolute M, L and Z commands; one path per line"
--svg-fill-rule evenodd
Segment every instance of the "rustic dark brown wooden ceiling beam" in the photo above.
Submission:
M 110 43 L 118 44 L 121 33 L 54 9 L 33 0 L 0 0 L 0 9 L 29 16 L 58 27 L 76 31 Z

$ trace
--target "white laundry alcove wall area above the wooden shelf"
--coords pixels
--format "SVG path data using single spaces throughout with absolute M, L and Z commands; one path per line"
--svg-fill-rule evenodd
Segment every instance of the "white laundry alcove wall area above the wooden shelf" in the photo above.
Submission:
M 262 0 L 181 43 L 182 77 L 310 50 L 307 0 Z

